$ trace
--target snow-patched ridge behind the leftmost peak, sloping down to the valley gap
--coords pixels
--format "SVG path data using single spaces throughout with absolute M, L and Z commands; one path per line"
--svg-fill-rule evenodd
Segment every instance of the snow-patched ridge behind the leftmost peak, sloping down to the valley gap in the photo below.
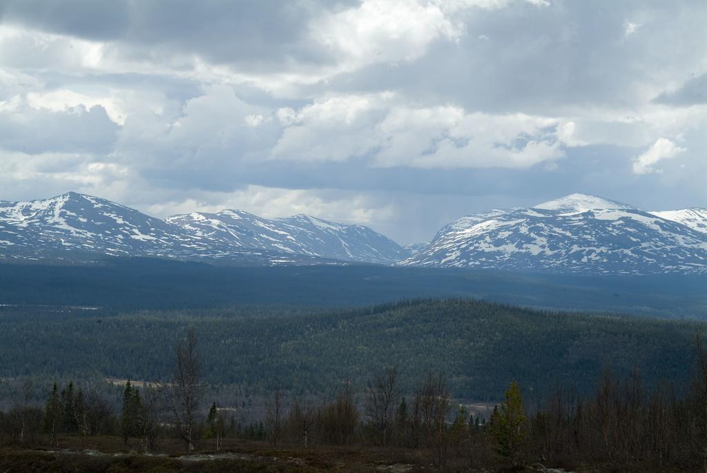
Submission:
M 368 227 L 308 215 L 262 218 L 244 211 L 223 210 L 217 214 L 176 215 L 167 221 L 217 245 L 380 264 L 407 256 L 400 245 Z

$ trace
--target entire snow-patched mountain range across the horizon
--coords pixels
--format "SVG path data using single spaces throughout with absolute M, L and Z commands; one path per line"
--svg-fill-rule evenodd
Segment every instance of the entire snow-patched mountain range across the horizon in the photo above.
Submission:
M 222 264 L 396 264 L 575 274 L 707 273 L 707 209 L 643 211 L 588 194 L 459 218 L 401 247 L 360 225 L 239 210 L 165 220 L 69 192 L 0 202 L 0 259 L 161 257 Z

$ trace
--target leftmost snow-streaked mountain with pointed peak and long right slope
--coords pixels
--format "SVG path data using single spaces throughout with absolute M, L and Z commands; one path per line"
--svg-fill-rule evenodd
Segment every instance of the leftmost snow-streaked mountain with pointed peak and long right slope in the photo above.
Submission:
M 380 238 L 397 246 L 382 235 Z M 243 264 L 346 263 L 346 258 L 320 253 L 325 252 L 235 245 L 226 239 L 207 238 L 122 204 L 77 192 L 27 202 L 0 201 L 0 257 L 4 259 L 91 261 L 95 257 L 129 256 Z M 366 255 L 349 260 L 376 262 Z

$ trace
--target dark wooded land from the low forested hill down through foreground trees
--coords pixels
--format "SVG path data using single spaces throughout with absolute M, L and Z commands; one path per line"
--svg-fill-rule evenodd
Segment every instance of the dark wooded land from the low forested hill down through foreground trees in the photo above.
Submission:
M 429 299 L 6 308 L 0 326 L 9 471 L 27 461 L 316 471 L 333 458 L 351 471 L 696 471 L 707 461 L 702 322 Z

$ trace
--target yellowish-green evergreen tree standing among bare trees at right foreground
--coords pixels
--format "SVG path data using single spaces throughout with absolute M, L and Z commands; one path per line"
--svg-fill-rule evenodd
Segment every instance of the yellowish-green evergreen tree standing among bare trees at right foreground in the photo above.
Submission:
M 496 453 L 517 467 L 520 466 L 520 454 L 527 436 L 527 424 L 520 387 L 515 381 L 510 383 L 505 398 L 501 409 L 498 406 L 493 408 L 489 428 L 496 440 Z

